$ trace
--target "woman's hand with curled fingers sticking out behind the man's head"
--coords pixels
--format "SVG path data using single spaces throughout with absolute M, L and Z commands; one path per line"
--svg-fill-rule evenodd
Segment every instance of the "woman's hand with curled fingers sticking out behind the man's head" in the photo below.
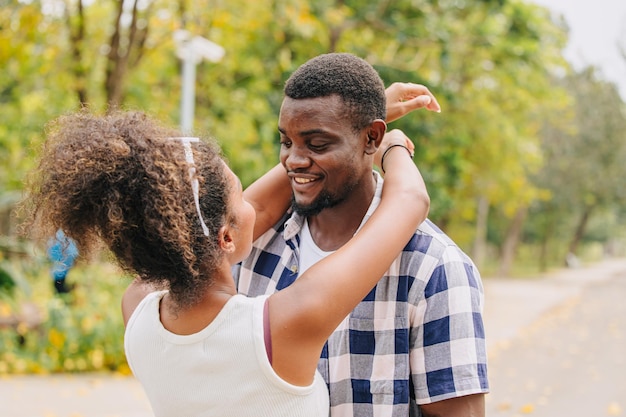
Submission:
M 393 83 L 385 90 L 385 96 L 387 97 L 387 123 L 417 109 L 426 108 L 437 113 L 441 112 L 441 107 L 433 93 L 421 84 Z

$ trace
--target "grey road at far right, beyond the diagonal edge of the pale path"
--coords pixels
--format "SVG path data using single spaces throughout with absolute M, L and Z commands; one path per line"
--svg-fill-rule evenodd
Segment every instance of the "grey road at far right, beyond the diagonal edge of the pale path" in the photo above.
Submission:
M 570 294 L 492 347 L 487 416 L 626 416 L 626 265 L 604 266 L 544 282 Z

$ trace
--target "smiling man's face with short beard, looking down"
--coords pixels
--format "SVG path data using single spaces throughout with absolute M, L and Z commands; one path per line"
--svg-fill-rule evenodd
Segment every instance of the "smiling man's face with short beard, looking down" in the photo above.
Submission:
M 349 200 L 372 161 L 365 155 L 365 129 L 356 133 L 339 96 L 286 97 L 280 110 L 280 161 L 293 190 L 293 208 L 314 216 Z

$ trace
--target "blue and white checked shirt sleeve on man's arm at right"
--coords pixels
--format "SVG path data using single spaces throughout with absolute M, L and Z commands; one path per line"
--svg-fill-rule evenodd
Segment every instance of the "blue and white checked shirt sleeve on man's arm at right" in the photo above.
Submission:
M 488 392 L 480 274 L 456 245 L 433 265 L 413 286 L 410 367 L 417 404 Z

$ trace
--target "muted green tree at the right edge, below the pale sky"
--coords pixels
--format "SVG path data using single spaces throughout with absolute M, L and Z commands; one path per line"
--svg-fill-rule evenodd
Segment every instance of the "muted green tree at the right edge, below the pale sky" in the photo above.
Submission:
M 594 213 L 618 214 L 626 203 L 626 112 L 617 87 L 592 67 L 568 77 L 565 86 L 574 99 L 573 125 L 545 129 L 548 163 L 536 181 L 552 198 L 535 207 L 545 224 L 536 232 L 544 251 L 555 235 L 570 236 L 562 257 L 579 254 Z M 542 253 L 543 266 L 547 256 Z

